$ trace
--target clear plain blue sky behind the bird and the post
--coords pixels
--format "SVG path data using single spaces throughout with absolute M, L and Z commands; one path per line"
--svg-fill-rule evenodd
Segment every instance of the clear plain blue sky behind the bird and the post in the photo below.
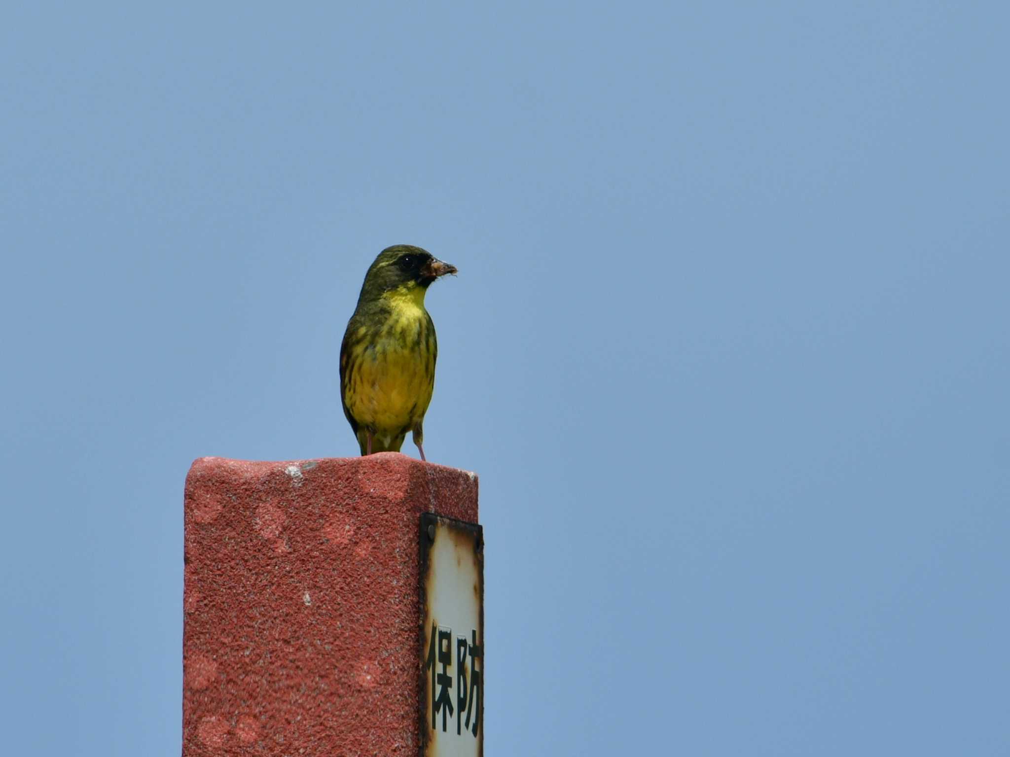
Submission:
M 186 470 L 357 452 L 412 243 L 490 754 L 1005 754 L 1008 21 L 5 5 L 5 749 L 179 754 Z

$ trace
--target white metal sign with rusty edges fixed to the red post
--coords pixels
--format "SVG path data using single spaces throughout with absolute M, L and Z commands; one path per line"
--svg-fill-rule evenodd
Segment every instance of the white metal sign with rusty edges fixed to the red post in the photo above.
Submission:
M 421 757 L 484 754 L 484 530 L 421 516 Z

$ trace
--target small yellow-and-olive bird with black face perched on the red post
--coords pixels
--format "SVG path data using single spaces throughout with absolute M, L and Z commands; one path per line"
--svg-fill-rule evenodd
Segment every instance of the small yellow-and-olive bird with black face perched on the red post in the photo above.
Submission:
M 387 247 L 365 275 L 340 344 L 340 403 L 363 455 L 399 452 L 408 431 L 424 458 L 424 413 L 438 342 L 424 295 L 454 265 L 410 244 Z

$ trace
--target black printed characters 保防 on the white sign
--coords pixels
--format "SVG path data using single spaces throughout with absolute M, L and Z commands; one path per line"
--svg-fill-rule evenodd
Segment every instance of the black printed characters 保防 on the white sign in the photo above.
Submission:
M 428 656 L 425 669 L 430 670 L 431 680 L 431 728 L 438 728 L 438 714 L 441 713 L 441 730 L 445 733 L 447 721 L 456 712 L 456 733 L 461 736 L 464 730 L 470 731 L 474 738 L 481 724 L 481 671 L 477 669 L 477 661 L 481 659 L 481 648 L 477 644 L 477 630 L 471 631 L 471 640 L 466 636 L 456 637 L 456 710 L 452 709 L 452 676 L 448 668 L 452 665 L 452 629 L 441 626 L 431 626 L 431 643 L 428 645 Z M 470 663 L 470 687 L 467 687 L 467 663 Z M 437 666 L 441 672 L 437 672 Z M 464 714 L 467 720 L 464 723 Z M 471 720 L 474 725 L 471 726 Z

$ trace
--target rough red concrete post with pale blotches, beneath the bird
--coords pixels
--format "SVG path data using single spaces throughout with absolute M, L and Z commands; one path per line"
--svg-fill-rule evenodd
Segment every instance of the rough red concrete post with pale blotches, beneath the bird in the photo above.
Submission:
M 198 459 L 186 478 L 183 755 L 414 755 L 421 513 L 477 477 L 398 453 Z

